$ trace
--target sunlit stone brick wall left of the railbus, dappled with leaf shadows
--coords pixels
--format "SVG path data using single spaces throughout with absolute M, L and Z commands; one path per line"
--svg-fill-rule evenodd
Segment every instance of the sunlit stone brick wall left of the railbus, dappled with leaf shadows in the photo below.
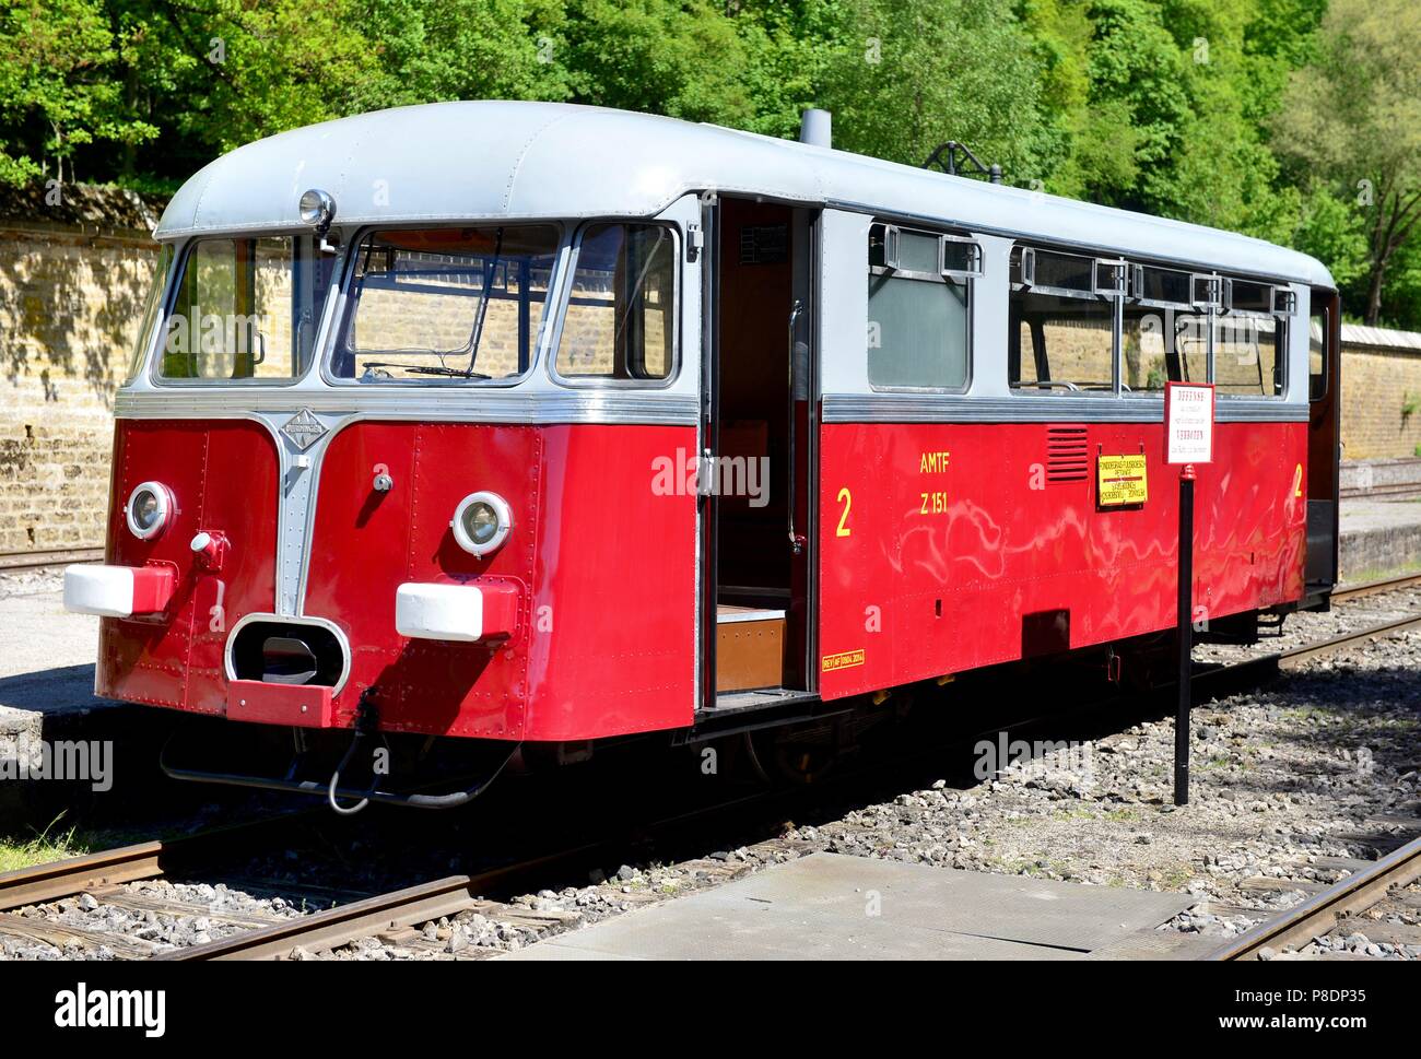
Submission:
M 102 543 L 155 222 L 155 202 L 91 188 L 0 200 L 0 553 Z

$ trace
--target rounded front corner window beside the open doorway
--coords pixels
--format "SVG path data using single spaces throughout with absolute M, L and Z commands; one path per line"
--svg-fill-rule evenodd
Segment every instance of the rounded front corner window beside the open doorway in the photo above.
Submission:
M 593 225 L 583 235 L 557 374 L 621 382 L 675 370 L 676 240 L 665 225 Z

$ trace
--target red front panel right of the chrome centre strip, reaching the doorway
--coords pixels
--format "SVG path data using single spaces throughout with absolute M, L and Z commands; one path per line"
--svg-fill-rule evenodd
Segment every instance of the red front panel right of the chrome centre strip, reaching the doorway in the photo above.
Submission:
M 341 625 L 354 660 L 337 699 L 382 689 L 381 726 L 495 739 L 588 739 L 691 724 L 695 496 L 657 496 L 652 461 L 693 451 L 661 426 L 360 422 L 325 453 L 304 613 Z M 395 486 L 371 488 L 385 465 Z M 449 520 L 476 490 L 513 509 L 509 540 L 463 552 Z M 395 635 L 404 581 L 520 586 L 514 635 Z

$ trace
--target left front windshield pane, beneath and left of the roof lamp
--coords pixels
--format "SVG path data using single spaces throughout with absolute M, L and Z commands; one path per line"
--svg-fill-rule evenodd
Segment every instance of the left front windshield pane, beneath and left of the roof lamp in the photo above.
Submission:
M 310 235 L 198 239 L 166 321 L 166 381 L 290 382 L 311 362 L 335 254 Z

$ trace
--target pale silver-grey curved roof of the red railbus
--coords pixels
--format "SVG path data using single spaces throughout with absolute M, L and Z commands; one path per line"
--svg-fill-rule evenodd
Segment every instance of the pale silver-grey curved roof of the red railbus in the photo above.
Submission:
M 921 216 L 1164 260 L 1333 286 L 1313 257 L 1258 239 L 845 151 L 557 102 L 442 102 L 361 114 L 249 144 L 173 196 L 159 239 L 298 223 L 308 188 L 338 225 L 651 216 L 686 192 Z

